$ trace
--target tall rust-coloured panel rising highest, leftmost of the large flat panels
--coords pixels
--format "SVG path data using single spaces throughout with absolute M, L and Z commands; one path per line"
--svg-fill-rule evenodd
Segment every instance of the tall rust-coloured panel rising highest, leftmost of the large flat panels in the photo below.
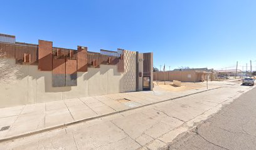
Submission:
M 51 71 L 53 69 L 53 42 L 38 40 L 38 69 Z

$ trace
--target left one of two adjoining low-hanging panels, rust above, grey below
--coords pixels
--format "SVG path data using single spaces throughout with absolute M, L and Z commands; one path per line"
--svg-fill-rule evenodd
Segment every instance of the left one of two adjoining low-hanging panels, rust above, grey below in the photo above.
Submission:
M 65 59 L 53 59 L 53 87 L 62 87 L 66 84 Z

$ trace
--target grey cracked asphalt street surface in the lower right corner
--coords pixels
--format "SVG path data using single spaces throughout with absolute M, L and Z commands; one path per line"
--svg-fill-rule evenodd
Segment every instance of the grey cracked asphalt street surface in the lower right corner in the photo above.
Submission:
M 168 149 L 256 149 L 256 88 L 179 135 Z

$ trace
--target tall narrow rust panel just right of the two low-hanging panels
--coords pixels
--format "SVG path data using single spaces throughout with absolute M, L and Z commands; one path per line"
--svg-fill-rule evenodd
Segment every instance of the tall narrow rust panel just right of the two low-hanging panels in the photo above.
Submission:
M 87 47 L 77 46 L 77 71 L 87 72 Z

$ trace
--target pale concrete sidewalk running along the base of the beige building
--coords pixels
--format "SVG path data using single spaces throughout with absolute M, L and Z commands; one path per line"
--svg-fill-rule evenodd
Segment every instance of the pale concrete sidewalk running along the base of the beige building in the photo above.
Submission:
M 218 87 L 210 86 L 209 89 Z M 2 108 L 0 140 L 61 128 L 79 121 L 141 108 L 206 90 L 201 88 L 179 93 L 163 91 L 119 93 Z

